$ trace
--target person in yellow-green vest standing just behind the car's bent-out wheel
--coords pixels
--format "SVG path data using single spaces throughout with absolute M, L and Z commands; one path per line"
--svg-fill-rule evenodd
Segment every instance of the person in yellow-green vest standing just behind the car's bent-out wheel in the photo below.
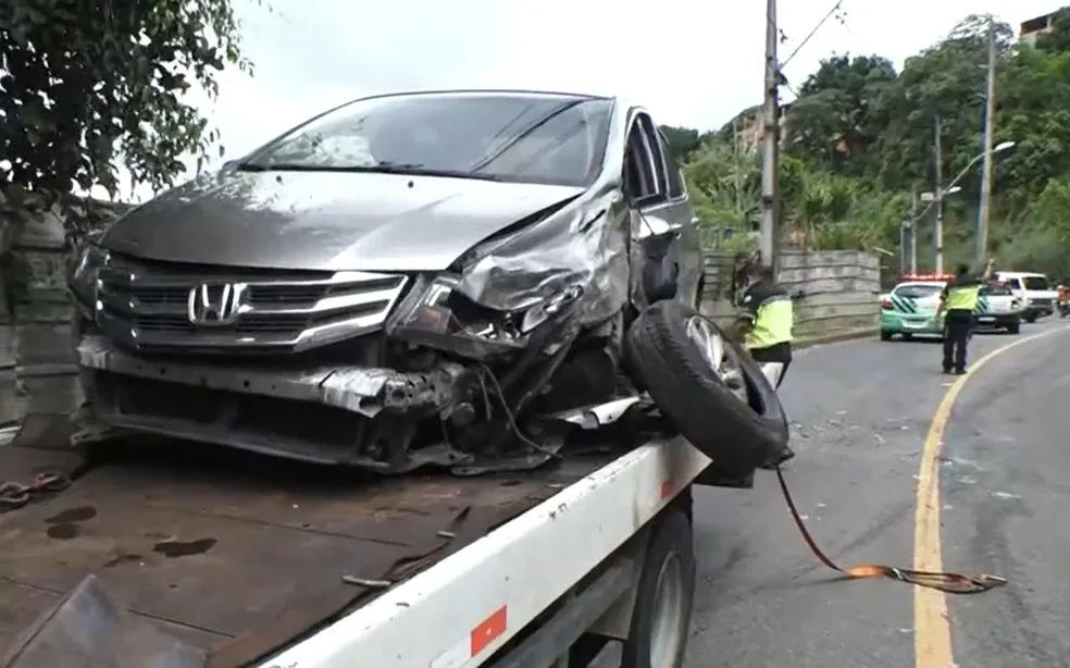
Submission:
M 780 387 L 792 363 L 792 297 L 776 283 L 772 268 L 752 264 L 746 271 L 748 285 L 739 298 L 744 345 L 759 364 L 780 364 L 773 383 Z

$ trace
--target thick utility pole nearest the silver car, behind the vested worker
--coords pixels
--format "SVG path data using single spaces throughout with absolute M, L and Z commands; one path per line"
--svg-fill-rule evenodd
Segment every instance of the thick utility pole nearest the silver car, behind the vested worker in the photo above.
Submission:
M 779 65 L 776 62 L 776 0 L 766 0 L 766 96 L 763 109 L 761 161 L 761 261 L 775 271 L 780 235 L 777 214 L 780 188 L 777 152 L 780 151 Z

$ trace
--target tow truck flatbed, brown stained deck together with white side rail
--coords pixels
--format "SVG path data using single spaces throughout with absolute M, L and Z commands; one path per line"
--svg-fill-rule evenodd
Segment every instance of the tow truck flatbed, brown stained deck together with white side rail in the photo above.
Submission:
M 0 447 L 0 479 L 59 457 L 75 480 L 0 515 L 0 650 L 95 574 L 209 668 L 485 665 L 709 462 L 652 442 L 536 472 L 354 479 L 187 444 L 79 470 L 36 445 Z

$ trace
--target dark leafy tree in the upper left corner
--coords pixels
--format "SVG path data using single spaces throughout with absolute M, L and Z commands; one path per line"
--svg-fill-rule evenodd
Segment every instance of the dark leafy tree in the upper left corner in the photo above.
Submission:
M 71 211 L 76 189 L 97 185 L 114 197 L 120 164 L 135 184 L 173 185 L 179 158 L 203 160 L 217 139 L 184 96 L 200 86 L 214 97 L 228 64 L 250 70 L 229 0 L 0 3 L 7 219 Z

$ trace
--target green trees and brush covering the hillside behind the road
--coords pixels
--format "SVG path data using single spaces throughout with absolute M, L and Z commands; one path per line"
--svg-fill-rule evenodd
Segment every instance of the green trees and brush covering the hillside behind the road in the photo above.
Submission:
M 940 117 L 945 186 L 982 150 L 988 17 L 971 15 L 900 72 L 881 54 L 834 55 L 785 113 L 785 234 L 816 248 L 897 251 L 910 189 L 933 190 Z M 1070 7 L 1035 46 L 997 23 L 995 157 L 990 249 L 1003 267 L 1070 277 Z M 758 214 L 758 108 L 719 131 L 668 128 L 699 214 L 744 231 Z M 981 163 L 945 200 L 945 262 L 974 258 Z M 923 206 L 922 206 L 923 208 Z M 932 210 L 919 221 L 919 264 L 934 257 Z M 736 239 L 745 237 L 734 235 Z M 893 260 L 893 263 L 895 260 Z

